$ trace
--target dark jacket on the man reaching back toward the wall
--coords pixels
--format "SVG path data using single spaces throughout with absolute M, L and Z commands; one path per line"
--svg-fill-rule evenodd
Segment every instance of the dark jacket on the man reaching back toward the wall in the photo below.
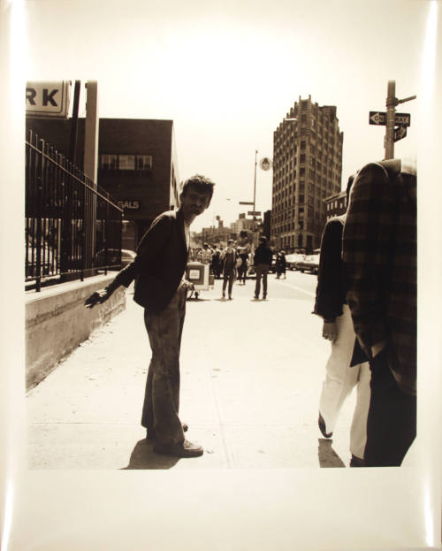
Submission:
M 143 308 L 164 310 L 175 295 L 187 266 L 188 250 L 182 210 L 160 214 L 143 235 L 133 262 L 111 283 L 128 287 L 135 280 L 133 300 Z

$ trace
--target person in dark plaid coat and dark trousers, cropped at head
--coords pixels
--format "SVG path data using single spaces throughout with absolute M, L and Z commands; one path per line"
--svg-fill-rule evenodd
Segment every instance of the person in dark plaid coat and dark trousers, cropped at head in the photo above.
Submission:
M 347 302 L 371 371 L 368 467 L 400 466 L 415 440 L 416 181 L 400 159 L 365 165 L 344 227 Z

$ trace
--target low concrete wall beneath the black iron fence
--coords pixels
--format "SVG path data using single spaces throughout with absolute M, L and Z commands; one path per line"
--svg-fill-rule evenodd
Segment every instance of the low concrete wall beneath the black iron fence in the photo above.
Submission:
M 85 300 L 105 287 L 115 273 L 84 281 L 48 287 L 26 296 L 26 383 L 27 390 L 38 385 L 57 362 L 110 318 L 126 308 L 126 289 L 119 287 L 103 304 L 92 310 Z

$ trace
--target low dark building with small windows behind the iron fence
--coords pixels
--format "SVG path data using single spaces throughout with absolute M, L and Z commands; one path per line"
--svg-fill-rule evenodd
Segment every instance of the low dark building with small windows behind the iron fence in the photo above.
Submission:
M 43 140 L 69 157 L 71 119 L 27 119 Z M 85 119 L 78 121 L 76 165 L 82 168 Z M 124 210 L 122 248 L 136 249 L 152 220 L 179 205 L 172 120 L 100 119 L 97 184 Z

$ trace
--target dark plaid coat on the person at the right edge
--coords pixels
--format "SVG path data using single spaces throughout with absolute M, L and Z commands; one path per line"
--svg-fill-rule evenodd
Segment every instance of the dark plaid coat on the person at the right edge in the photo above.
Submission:
M 366 165 L 354 180 L 343 260 L 362 348 L 370 358 L 385 341 L 400 389 L 416 394 L 416 178 L 397 163 Z

